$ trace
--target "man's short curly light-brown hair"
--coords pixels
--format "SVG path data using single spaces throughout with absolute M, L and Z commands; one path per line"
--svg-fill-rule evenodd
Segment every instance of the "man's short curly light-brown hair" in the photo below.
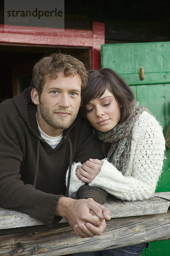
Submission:
M 81 88 L 87 83 L 87 71 L 83 62 L 65 53 L 53 53 L 38 61 L 33 68 L 31 90 L 35 88 L 41 96 L 47 79 L 56 79 L 59 72 L 65 76 L 78 74 L 81 78 Z

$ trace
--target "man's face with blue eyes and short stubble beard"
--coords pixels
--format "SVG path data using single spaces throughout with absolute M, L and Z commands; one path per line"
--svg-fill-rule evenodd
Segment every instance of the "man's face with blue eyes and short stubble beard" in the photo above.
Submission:
M 38 123 L 49 136 L 56 137 L 75 121 L 81 103 L 81 79 L 78 75 L 47 79 L 37 105 Z

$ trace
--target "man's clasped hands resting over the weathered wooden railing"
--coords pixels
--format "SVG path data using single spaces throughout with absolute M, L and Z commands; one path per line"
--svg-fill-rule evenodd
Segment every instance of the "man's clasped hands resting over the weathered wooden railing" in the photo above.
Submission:
M 56 215 L 68 219 L 70 226 L 81 238 L 100 235 L 110 220 L 110 212 L 95 201 L 61 197 L 58 201 Z

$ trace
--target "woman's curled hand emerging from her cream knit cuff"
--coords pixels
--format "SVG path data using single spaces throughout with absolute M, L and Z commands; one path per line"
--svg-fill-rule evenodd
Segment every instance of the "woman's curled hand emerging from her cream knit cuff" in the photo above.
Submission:
M 101 170 L 103 162 L 90 158 L 76 169 L 77 177 L 83 182 L 91 183 Z

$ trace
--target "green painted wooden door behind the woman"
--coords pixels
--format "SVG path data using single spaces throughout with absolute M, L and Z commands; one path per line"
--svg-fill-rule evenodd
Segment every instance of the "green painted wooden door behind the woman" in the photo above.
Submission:
M 101 67 L 119 73 L 133 89 L 136 100 L 145 105 L 163 127 L 170 122 L 170 42 L 104 44 Z M 144 69 L 144 79 L 139 76 Z M 166 149 L 163 172 L 156 192 L 170 191 L 170 149 Z M 170 240 L 150 243 L 142 256 L 169 256 Z

